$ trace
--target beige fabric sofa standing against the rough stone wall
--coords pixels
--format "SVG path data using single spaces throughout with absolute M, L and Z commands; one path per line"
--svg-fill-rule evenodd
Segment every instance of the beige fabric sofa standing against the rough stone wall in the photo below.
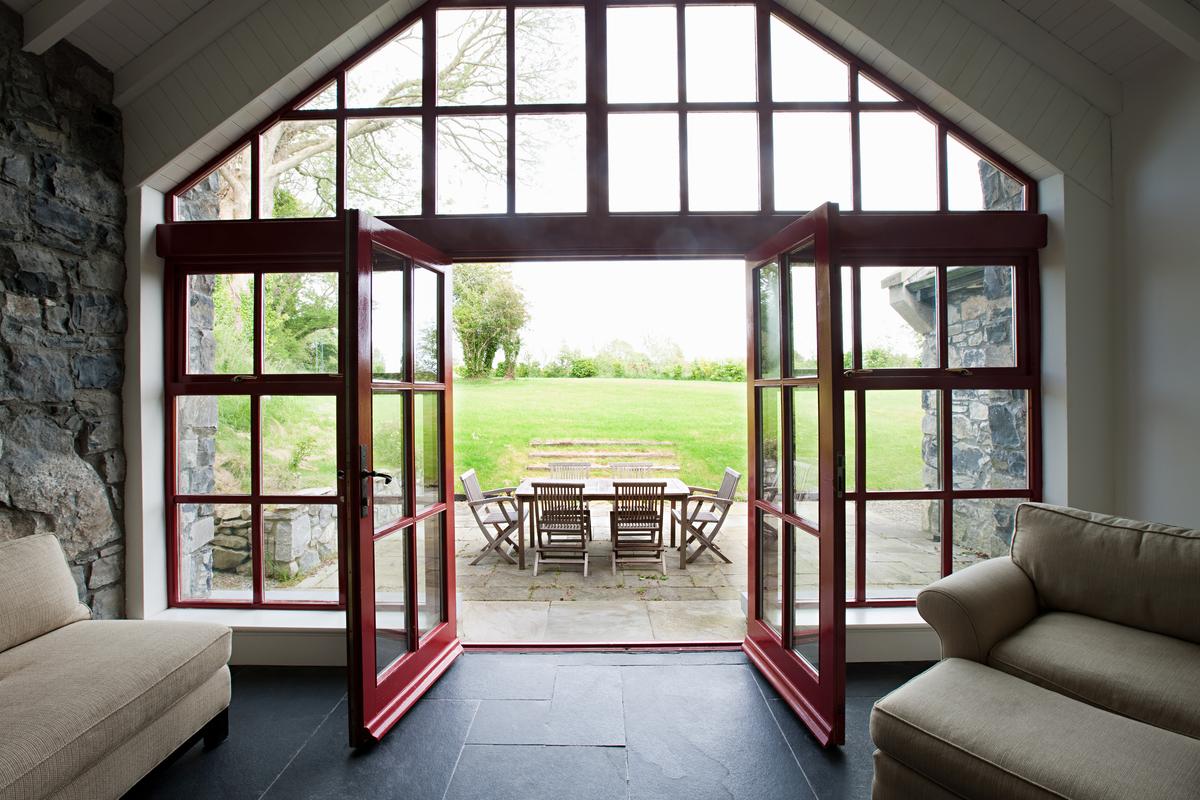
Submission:
M 119 798 L 228 729 L 222 625 L 91 620 L 56 539 L 0 543 L 0 800 Z

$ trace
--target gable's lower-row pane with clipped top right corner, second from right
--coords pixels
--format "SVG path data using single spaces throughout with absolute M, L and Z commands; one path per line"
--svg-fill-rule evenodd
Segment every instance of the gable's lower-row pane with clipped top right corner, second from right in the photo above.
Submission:
M 937 128 L 916 112 L 859 116 L 865 211 L 937 210 Z

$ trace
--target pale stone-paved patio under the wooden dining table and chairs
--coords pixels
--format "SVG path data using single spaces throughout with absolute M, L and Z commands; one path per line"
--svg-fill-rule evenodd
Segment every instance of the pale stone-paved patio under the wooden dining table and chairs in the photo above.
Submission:
M 745 636 L 746 510 L 733 506 L 720 543 L 733 564 L 710 554 L 680 570 L 667 558 L 664 577 L 653 567 L 610 566 L 607 506 L 595 504 L 594 541 L 587 578 L 578 569 L 533 570 L 488 557 L 470 561 L 484 546 L 466 503 L 455 504 L 458 632 L 464 642 L 685 642 Z M 913 596 L 940 577 L 940 545 L 914 519 L 869 517 L 872 595 Z M 848 553 L 847 553 L 848 557 Z M 808 570 L 806 570 L 808 571 Z M 811 570 L 815 572 L 815 565 Z

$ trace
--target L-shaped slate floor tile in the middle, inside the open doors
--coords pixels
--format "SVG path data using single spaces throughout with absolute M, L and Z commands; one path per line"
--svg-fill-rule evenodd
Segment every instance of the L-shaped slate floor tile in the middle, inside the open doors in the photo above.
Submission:
M 473 745 L 625 744 L 619 667 L 559 667 L 550 700 L 482 700 Z

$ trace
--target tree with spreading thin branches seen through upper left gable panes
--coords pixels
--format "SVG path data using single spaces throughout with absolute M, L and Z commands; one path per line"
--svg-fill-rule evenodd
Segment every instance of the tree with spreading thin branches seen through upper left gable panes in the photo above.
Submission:
M 516 32 L 527 49 L 521 59 L 518 80 L 522 102 L 551 97 L 560 86 L 564 59 L 575 58 L 568 30 L 574 23 L 552 8 L 526 8 L 516 14 Z M 503 10 L 480 10 L 463 19 L 462 25 L 442 31 L 438 49 L 436 86 L 443 106 L 503 103 L 505 90 L 506 30 Z M 416 108 L 424 91 L 420 68 L 421 26 L 413 25 L 385 44 L 364 65 L 380 58 L 366 76 L 361 89 L 366 96 L 352 98 L 359 108 Z M 397 70 L 396 64 L 418 65 L 415 70 Z M 322 92 L 324 100 L 330 92 Z M 325 102 L 311 102 L 328 108 Z M 347 197 L 352 207 L 400 209 L 416 213 L 414 199 L 420 197 L 421 151 L 420 118 L 367 118 L 348 120 L 346 125 Z M 500 126 L 503 130 L 503 126 Z M 554 136 L 553 131 L 548 136 Z M 488 180 L 503 181 L 506 172 L 506 139 L 486 116 L 445 118 L 438 130 L 439 148 L 449 148 L 466 169 Z M 521 150 L 536 154 L 539 142 L 528 142 Z M 292 120 L 275 125 L 259 139 L 260 197 L 264 209 L 274 217 L 331 216 L 336 209 L 336 126 L 330 120 Z M 518 170 L 520 173 L 521 170 Z M 234 157 L 218 168 L 221 218 L 244 216 L 248 209 L 250 158 Z

